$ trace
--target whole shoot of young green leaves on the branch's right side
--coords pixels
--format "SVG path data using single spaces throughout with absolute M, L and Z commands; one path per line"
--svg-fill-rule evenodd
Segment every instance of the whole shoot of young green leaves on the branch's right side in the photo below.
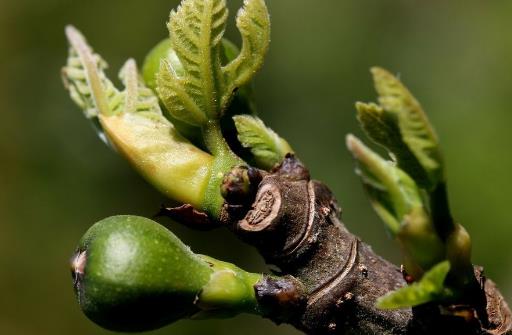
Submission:
M 448 298 L 444 278 L 450 263 L 452 270 L 471 264 L 470 241 L 449 213 L 434 212 L 448 211 L 439 140 L 419 102 L 395 76 L 381 68 L 372 68 L 371 73 L 379 104 L 357 103 L 357 118 L 389 159 L 353 135 L 347 137 L 347 147 L 373 208 L 400 244 L 405 270 L 416 281 L 383 297 L 378 305 L 401 308 Z M 453 239 L 458 242 L 451 243 Z M 447 266 L 436 265 L 445 260 Z

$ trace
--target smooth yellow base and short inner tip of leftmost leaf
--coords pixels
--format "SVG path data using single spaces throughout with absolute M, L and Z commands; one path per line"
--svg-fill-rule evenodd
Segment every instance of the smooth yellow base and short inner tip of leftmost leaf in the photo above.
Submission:
M 153 91 L 139 80 L 134 62 L 121 72 L 126 85 L 125 108 L 100 122 L 116 148 L 169 198 L 199 208 L 213 157 L 183 138 L 162 115 Z

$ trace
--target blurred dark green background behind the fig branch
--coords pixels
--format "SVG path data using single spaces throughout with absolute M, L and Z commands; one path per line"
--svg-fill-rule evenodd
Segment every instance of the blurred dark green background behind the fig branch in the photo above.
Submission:
M 474 261 L 512 300 L 511 1 L 267 0 L 272 44 L 258 75 L 260 115 L 336 193 L 349 228 L 398 262 L 344 146 L 361 134 L 368 68 L 399 73 L 424 105 L 448 164 L 453 212 Z M 73 23 L 110 63 L 139 63 L 166 35 L 171 1 L 0 0 L 0 334 L 107 334 L 74 301 L 68 260 L 95 221 L 151 216 L 162 203 L 111 152 L 60 80 Z M 229 1 L 231 13 L 241 5 Z M 233 16 L 231 17 L 233 18 Z M 233 20 L 227 33 L 237 40 Z M 226 231 L 173 231 L 197 252 L 263 271 Z M 298 334 L 257 317 L 181 321 L 154 334 Z

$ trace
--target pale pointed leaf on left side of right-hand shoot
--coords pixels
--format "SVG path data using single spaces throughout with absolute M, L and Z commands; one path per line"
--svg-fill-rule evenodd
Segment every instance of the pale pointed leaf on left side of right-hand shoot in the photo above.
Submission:
M 370 201 L 393 234 L 400 230 L 405 215 L 421 207 L 419 189 L 404 171 L 365 146 L 353 135 L 347 136 L 347 147 L 358 163 Z

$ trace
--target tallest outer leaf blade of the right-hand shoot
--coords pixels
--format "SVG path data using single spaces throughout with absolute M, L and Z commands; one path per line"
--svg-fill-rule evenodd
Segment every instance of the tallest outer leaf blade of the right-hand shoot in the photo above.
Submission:
M 444 180 L 443 162 L 439 149 L 437 136 L 428 121 L 421 105 L 409 92 L 409 90 L 392 74 L 381 68 L 372 68 L 372 74 L 375 82 L 375 88 L 379 94 L 379 104 L 385 113 L 391 114 L 396 118 L 398 129 L 403 143 L 405 143 L 410 152 L 416 157 L 421 168 L 424 170 L 426 179 L 421 178 L 417 171 L 418 166 L 414 160 L 405 159 L 400 162 L 400 157 L 404 157 L 403 150 L 393 152 L 396 147 L 388 147 L 387 141 L 381 141 L 379 136 L 372 136 L 372 139 L 386 146 L 399 159 L 400 167 L 411 176 L 418 179 L 416 181 L 420 186 L 428 191 L 434 189 L 438 183 Z M 396 143 L 396 141 L 393 141 Z M 413 163 L 413 164 L 411 164 Z

